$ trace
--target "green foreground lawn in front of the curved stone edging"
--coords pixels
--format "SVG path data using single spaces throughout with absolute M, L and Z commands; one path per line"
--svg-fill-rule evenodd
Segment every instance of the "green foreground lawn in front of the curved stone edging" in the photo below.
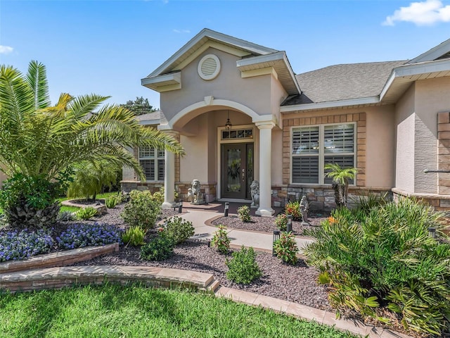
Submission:
M 0 337 L 356 337 L 202 293 L 79 287 L 0 294 Z

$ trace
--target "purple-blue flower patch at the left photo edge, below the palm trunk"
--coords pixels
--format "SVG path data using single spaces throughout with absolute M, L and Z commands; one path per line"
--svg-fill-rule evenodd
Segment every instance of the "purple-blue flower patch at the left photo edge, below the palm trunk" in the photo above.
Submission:
M 48 253 L 53 244 L 50 230 L 0 232 L 0 262 Z

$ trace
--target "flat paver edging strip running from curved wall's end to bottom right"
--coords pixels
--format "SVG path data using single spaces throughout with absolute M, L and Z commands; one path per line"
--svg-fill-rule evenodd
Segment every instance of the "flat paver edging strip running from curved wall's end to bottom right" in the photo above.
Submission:
M 262 294 L 230 289 L 228 287 L 219 287 L 215 294 L 217 297 L 224 297 L 238 303 L 261 306 L 262 308 L 268 308 L 278 313 L 284 313 L 285 315 L 293 315 L 296 318 L 333 326 L 337 330 L 359 334 L 361 337 L 368 335 L 370 338 L 412 338 L 406 334 L 383 329 L 383 327 L 364 325 L 364 323 L 353 320 L 336 319 L 335 313 L 319 310 L 319 308 L 311 308 L 291 301 L 263 296 Z

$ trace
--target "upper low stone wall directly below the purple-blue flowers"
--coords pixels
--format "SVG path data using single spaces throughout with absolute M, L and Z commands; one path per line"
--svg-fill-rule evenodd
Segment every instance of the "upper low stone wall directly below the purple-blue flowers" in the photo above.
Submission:
M 73 263 L 89 261 L 94 257 L 113 253 L 115 251 L 119 251 L 118 243 L 46 253 L 23 261 L 7 261 L 0 263 L 0 274 L 37 268 L 72 265 Z

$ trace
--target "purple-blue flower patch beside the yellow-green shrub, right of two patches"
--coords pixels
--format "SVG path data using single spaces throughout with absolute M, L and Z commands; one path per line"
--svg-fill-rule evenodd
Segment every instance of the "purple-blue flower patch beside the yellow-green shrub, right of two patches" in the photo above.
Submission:
M 56 237 L 61 249 L 77 249 L 84 246 L 122 244 L 122 230 L 115 225 L 102 223 L 74 224 Z

